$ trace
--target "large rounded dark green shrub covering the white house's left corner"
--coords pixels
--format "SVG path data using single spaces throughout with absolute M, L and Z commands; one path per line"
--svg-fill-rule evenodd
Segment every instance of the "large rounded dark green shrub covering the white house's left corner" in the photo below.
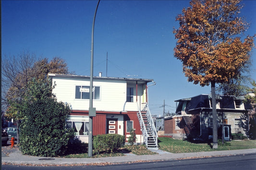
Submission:
M 43 157 L 63 155 L 73 129 L 66 128 L 69 106 L 55 98 L 29 103 L 24 109 L 20 131 L 20 150 L 24 154 Z

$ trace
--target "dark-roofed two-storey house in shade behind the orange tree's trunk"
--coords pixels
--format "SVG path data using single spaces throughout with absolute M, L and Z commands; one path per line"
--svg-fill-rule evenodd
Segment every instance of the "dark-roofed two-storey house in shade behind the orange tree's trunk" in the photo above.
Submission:
M 218 136 L 230 140 L 235 134 L 246 135 L 248 111 L 243 97 L 217 96 Z M 212 100 L 210 95 L 199 95 L 176 100 L 176 115 L 165 118 L 165 135 L 174 138 L 207 140 L 212 135 Z M 223 129 L 222 129 L 223 127 Z

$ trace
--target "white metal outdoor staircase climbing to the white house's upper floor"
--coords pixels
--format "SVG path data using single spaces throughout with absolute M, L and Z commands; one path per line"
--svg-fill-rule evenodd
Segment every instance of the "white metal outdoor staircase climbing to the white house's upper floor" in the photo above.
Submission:
M 148 105 L 146 104 L 146 111 L 143 113 L 141 113 L 138 103 L 137 106 L 139 111 L 137 116 L 140 122 L 144 143 L 148 149 L 158 149 L 158 134 Z

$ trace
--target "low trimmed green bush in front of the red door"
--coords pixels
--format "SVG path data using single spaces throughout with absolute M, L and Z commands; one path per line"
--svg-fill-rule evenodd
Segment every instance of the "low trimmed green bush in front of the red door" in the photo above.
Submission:
M 100 151 L 115 151 L 124 145 L 125 138 L 118 134 L 97 135 L 93 138 L 93 147 L 96 153 Z

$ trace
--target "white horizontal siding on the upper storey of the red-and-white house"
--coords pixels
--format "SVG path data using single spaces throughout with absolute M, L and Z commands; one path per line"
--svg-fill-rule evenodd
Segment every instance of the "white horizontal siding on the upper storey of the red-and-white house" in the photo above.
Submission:
M 73 110 L 88 110 L 89 99 L 75 99 L 76 85 L 90 85 L 90 80 L 85 78 L 73 77 L 52 77 L 52 82 L 56 83 L 53 93 L 58 101 L 68 103 Z M 98 80 L 94 79 L 94 86 L 100 86 L 100 99 L 93 101 L 93 107 L 98 111 L 136 111 L 136 85 L 134 87 L 134 102 L 126 102 L 125 80 Z M 144 88 L 138 85 L 138 103 L 143 102 Z M 140 104 L 139 104 L 140 105 Z

